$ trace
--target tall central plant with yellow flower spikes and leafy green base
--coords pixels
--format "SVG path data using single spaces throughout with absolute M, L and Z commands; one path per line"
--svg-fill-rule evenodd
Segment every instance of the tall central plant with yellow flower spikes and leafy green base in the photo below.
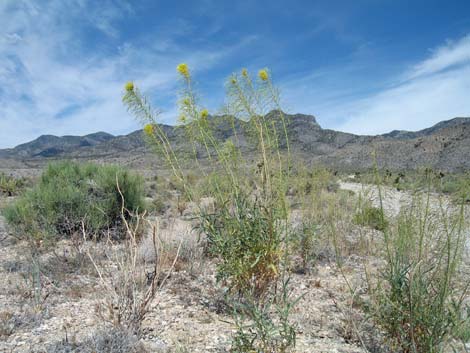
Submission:
M 163 156 L 185 199 L 195 201 L 202 192 L 215 200 L 214 213 L 204 209 L 197 212 L 199 229 L 207 242 L 207 252 L 217 259 L 217 278 L 232 289 L 231 294 L 252 300 L 253 305 L 245 310 L 250 314 L 241 321 L 255 319 L 262 312 L 262 327 L 272 327 L 271 314 L 263 305 L 272 297 L 270 289 L 275 292 L 279 280 L 287 286 L 290 248 L 286 194 L 291 160 L 288 122 L 279 107 L 279 94 L 266 69 L 259 71 L 257 80 L 244 69 L 227 82 L 226 114 L 211 117 L 199 104 L 187 65 L 178 65 L 177 71 L 183 82 L 180 128 L 191 144 L 194 158 L 191 166 L 198 169 L 206 183 L 203 188 L 196 189 L 188 179 L 183 169 L 187 156 L 173 149 L 165 130 L 157 123 L 158 112 L 132 82 L 126 84 L 123 101 L 144 124 L 147 140 Z M 254 163 L 244 158 L 236 124 L 244 128 L 245 136 L 255 146 Z M 218 127 L 223 127 L 221 130 L 231 127 L 233 139 L 225 140 Z M 262 327 L 258 326 L 260 330 Z M 295 342 L 293 329 L 288 331 L 286 347 Z M 273 337 L 266 336 L 263 344 L 277 347 L 274 341 L 268 343 Z M 234 337 L 234 342 L 239 338 Z

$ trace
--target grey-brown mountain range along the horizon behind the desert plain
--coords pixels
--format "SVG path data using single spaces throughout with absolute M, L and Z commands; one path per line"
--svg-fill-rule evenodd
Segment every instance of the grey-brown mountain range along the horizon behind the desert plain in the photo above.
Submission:
M 273 111 L 266 118 L 272 119 L 280 128 L 279 112 Z M 232 124 L 227 119 L 213 117 L 211 121 L 217 138 L 234 138 Z M 392 131 L 377 136 L 323 129 L 311 115 L 287 115 L 287 121 L 291 150 L 308 164 L 321 163 L 338 170 L 364 170 L 372 167 L 375 151 L 379 165 L 391 170 L 421 167 L 454 172 L 470 170 L 470 118 L 442 121 L 416 132 Z M 234 126 L 241 147 L 249 153 L 253 146 L 246 134 L 247 122 L 235 120 Z M 162 128 L 177 150 L 189 151 L 182 129 L 168 125 L 162 125 Z M 280 143 L 285 147 L 282 135 Z M 198 153 L 204 157 L 203 149 Z M 103 132 L 83 137 L 47 135 L 12 149 L 0 150 L 0 166 L 3 163 L 27 168 L 41 166 L 54 159 L 74 158 L 142 168 L 152 165 L 152 156 L 141 131 L 125 136 Z

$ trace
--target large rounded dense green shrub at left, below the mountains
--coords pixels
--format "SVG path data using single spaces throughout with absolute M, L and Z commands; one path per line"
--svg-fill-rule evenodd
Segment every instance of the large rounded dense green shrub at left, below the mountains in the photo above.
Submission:
M 4 213 L 10 225 L 38 240 L 69 237 L 82 225 L 87 234 L 99 236 L 122 230 L 121 207 L 130 218 L 142 209 L 142 200 L 142 179 L 120 167 L 59 162 Z

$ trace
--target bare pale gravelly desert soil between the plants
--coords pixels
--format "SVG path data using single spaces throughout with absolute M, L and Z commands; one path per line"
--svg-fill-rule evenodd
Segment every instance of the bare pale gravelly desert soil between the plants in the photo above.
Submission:
M 341 187 L 377 199 L 373 189 L 360 184 Z M 391 214 L 410 200 L 407 193 L 387 190 L 385 194 L 384 205 Z M 196 236 L 189 221 L 171 217 L 160 221 L 175 238 Z M 102 288 L 93 268 L 75 269 L 67 242 L 59 244 L 56 252 L 62 262 L 49 257 L 43 266 L 62 265 L 65 273 L 44 275 L 41 296 L 35 300 L 31 278 L 24 275 L 31 272 L 28 245 L 8 235 L 0 217 L 0 352 L 48 352 L 60 342 L 82 342 L 107 327 L 96 310 Z M 351 255 L 340 272 L 334 258 L 325 256 L 311 273 L 293 274 L 292 296 L 301 297 L 293 313 L 296 352 L 386 352 L 378 330 L 351 300 L 351 287 L 356 294 L 365 293 L 364 260 Z M 204 261 L 177 269 L 152 302 L 142 337 L 149 351 L 181 352 L 178 347 L 187 352 L 229 351 L 235 327 L 224 310 L 215 266 Z

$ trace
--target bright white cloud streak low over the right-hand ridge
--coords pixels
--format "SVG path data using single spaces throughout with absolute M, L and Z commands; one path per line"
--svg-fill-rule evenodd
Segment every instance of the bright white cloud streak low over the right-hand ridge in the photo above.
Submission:
M 360 134 L 420 130 L 469 116 L 469 92 L 470 66 L 413 79 L 337 109 L 336 114 L 347 117 L 337 128 Z

